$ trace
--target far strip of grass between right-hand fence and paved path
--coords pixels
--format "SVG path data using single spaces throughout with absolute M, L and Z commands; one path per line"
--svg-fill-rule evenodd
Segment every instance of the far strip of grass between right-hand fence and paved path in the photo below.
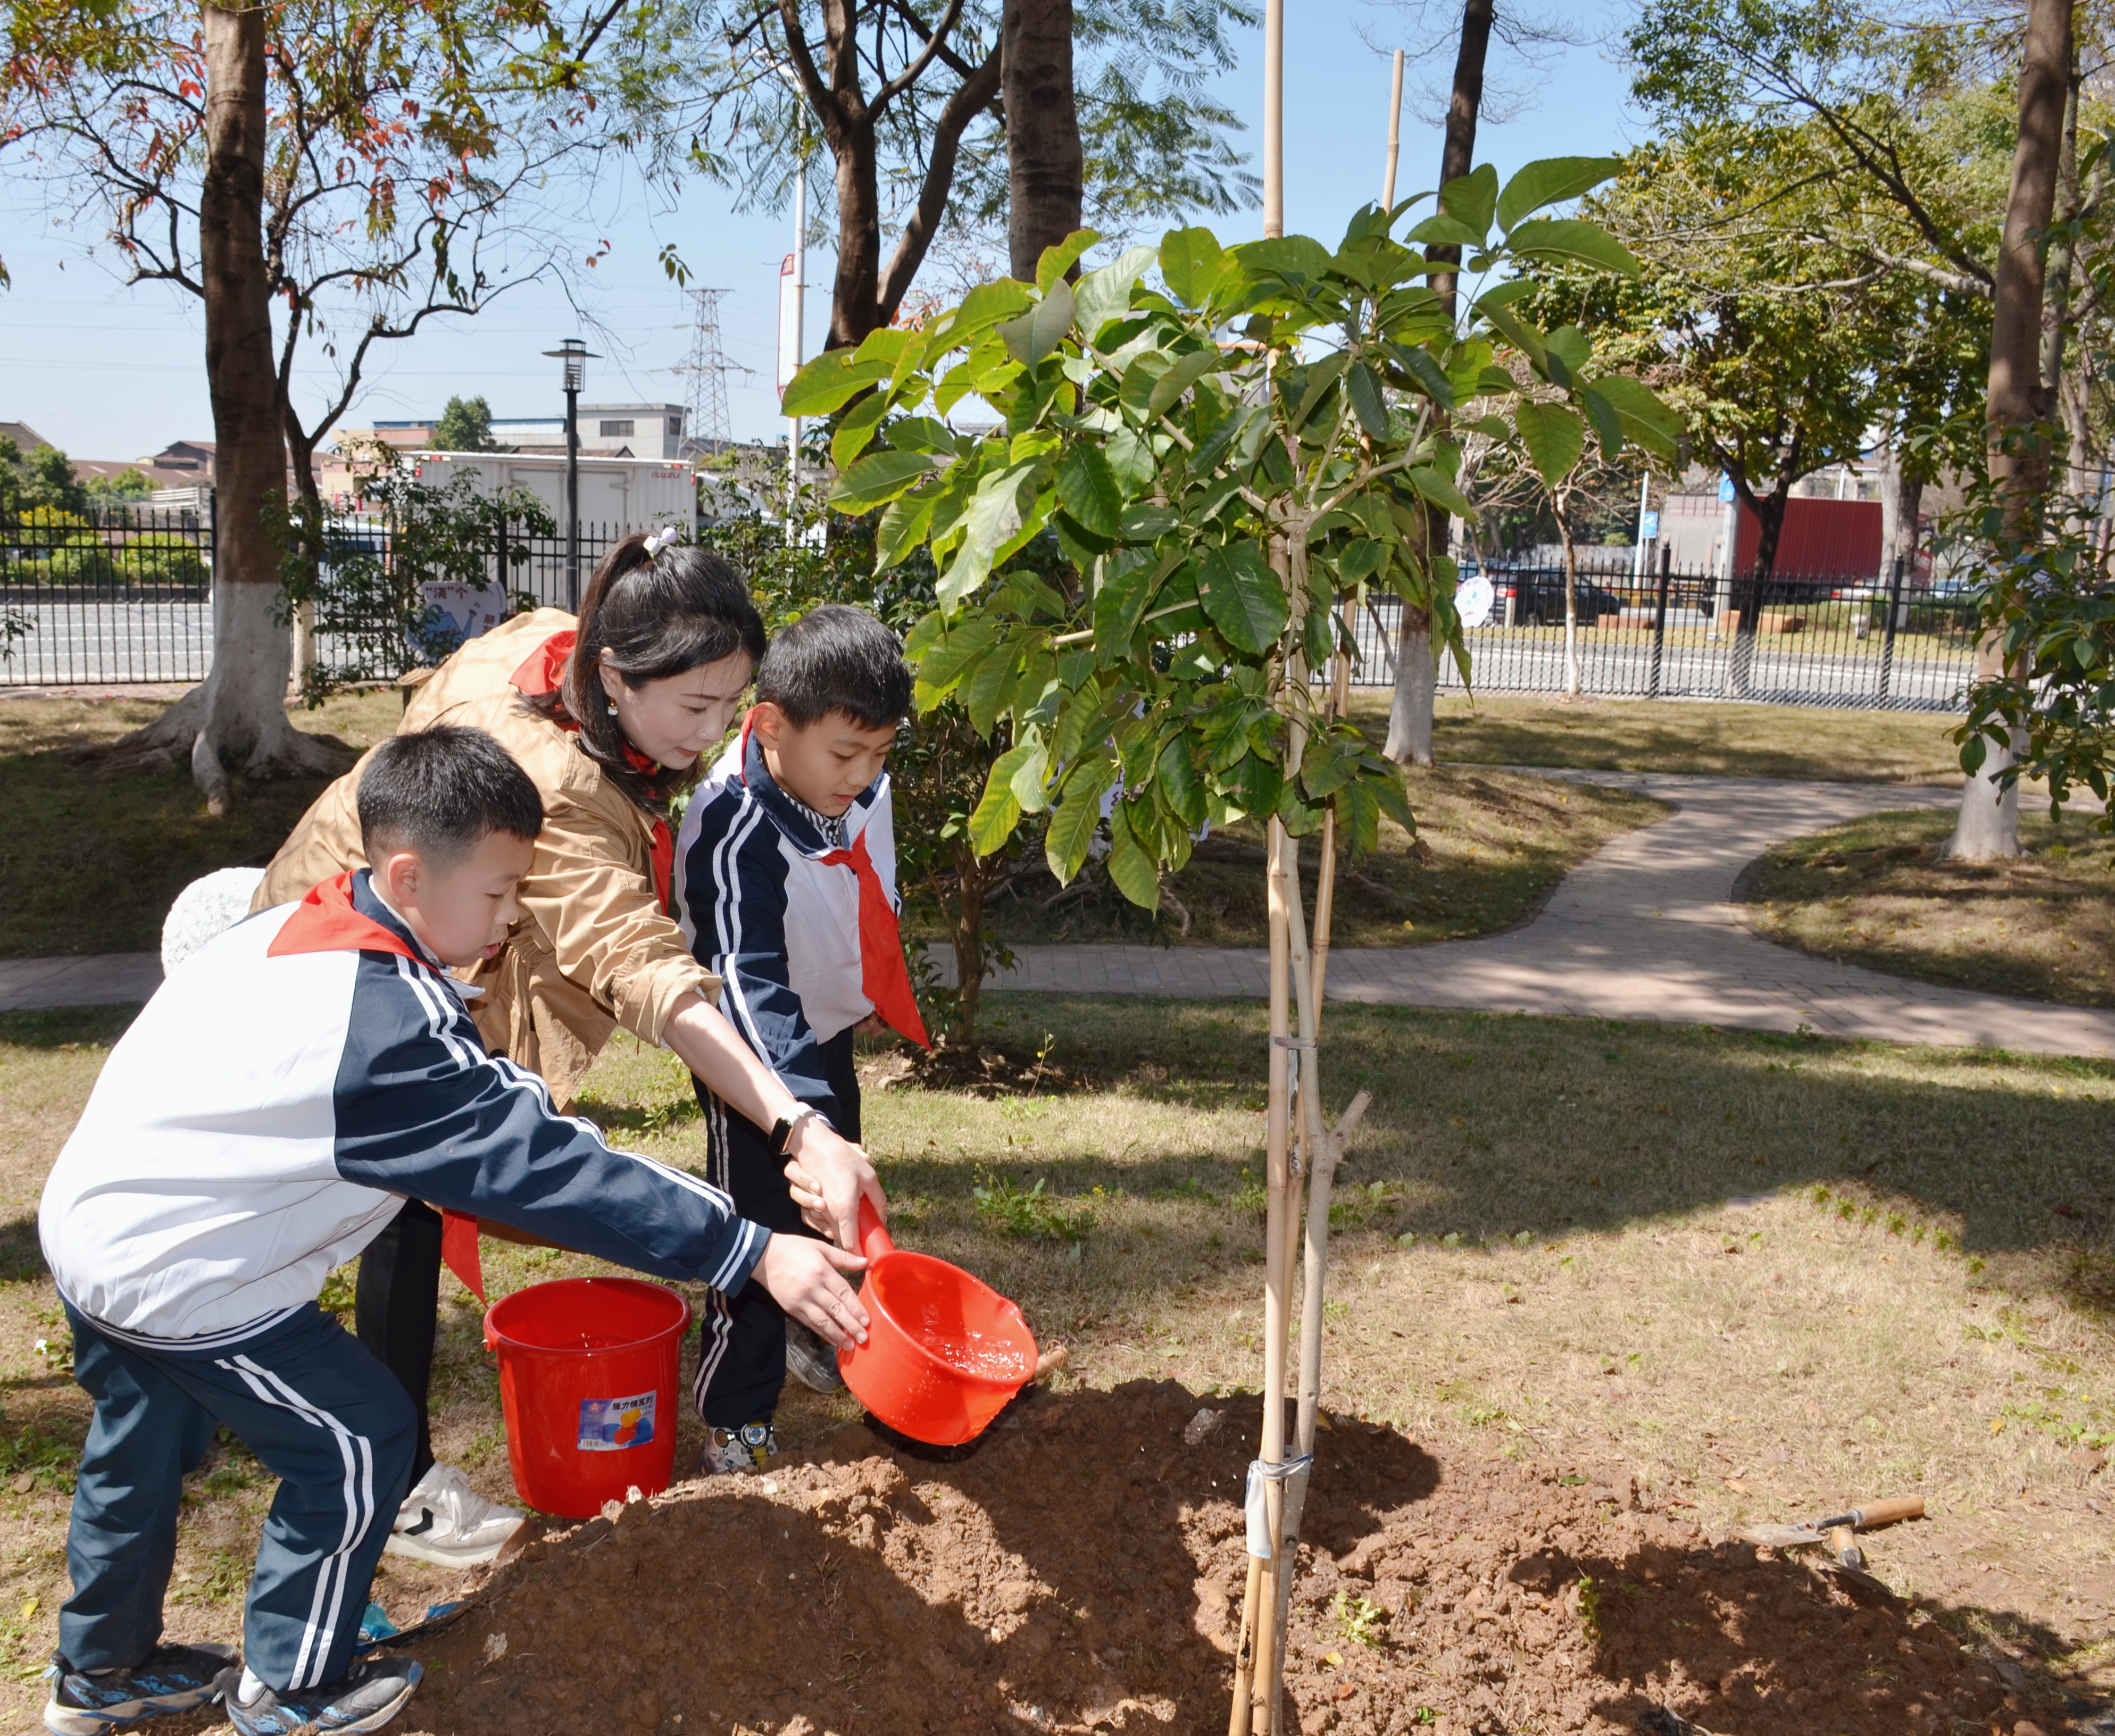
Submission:
M 1381 740 L 1387 689 L 1354 691 L 1351 717 Z M 1449 694 L 1434 706 L 1432 751 L 1442 763 L 1474 765 L 1958 784 L 1961 753 L 1946 738 L 1956 721 L 1914 710 Z

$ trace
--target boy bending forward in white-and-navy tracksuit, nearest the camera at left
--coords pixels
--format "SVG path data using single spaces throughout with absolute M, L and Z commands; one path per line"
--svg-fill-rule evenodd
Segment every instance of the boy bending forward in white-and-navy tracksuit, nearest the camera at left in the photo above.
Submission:
M 44 1723 L 89 1736 L 224 1700 L 241 1736 L 379 1730 L 419 1664 L 353 1662 L 415 1417 L 315 1305 L 406 1197 L 677 1279 L 751 1273 L 838 1338 L 859 1262 L 611 1150 L 484 1053 L 442 966 L 497 952 L 544 808 L 480 730 L 396 736 L 360 784 L 372 869 L 192 954 L 112 1049 L 38 1226 L 95 1400 Z M 840 1326 L 844 1322 L 844 1326 Z M 161 1645 L 182 1478 L 226 1423 L 279 1493 L 226 1647 Z

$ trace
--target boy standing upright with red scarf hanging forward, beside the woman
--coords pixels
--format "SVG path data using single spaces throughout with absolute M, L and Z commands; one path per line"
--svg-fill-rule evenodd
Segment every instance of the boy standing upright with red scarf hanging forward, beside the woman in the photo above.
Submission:
M 888 749 L 909 708 L 897 636 L 829 603 L 780 632 L 757 666 L 740 738 L 698 784 L 677 839 L 677 897 L 721 1011 L 799 1097 L 859 1142 L 852 1032 L 869 1021 L 924 1042 L 897 935 L 897 846 Z M 766 1133 L 698 1083 L 706 1174 L 734 1209 L 772 1231 L 804 1229 L 819 1201 L 783 1157 L 791 1123 Z M 702 1470 L 761 1465 L 787 1366 L 838 1385 L 835 1358 L 755 1286 L 713 1298 L 698 1358 L 698 1415 L 713 1429 Z

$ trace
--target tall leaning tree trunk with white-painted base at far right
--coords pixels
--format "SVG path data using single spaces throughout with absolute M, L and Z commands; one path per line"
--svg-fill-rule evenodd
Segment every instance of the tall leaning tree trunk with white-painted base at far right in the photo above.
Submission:
M 2049 391 L 2043 385 L 2043 256 L 2056 182 L 2062 173 L 2064 112 L 2071 95 L 2071 0 L 2028 0 L 2026 44 L 2020 57 L 2020 142 L 2011 156 L 2005 199 L 2005 241 L 1997 260 L 1990 313 L 1990 398 L 1986 431 L 1990 476 L 2003 491 L 2009 537 L 2039 533 L 2049 495 Z M 1994 632 L 1975 649 L 1975 675 L 2005 672 Z M 2022 742 L 1992 746 L 1982 770 L 1961 791 L 1961 818 L 1946 844 L 1948 856 L 1999 861 L 2020 854 L 2020 791 L 2003 774 L 2018 761 Z

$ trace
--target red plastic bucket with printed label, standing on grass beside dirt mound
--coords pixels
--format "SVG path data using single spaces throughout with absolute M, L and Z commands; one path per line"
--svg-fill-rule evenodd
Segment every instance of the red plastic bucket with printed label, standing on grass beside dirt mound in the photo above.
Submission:
M 499 1355 L 514 1489 L 560 1518 L 675 1480 L 677 1389 L 689 1303 L 637 1277 L 567 1277 L 484 1315 Z

